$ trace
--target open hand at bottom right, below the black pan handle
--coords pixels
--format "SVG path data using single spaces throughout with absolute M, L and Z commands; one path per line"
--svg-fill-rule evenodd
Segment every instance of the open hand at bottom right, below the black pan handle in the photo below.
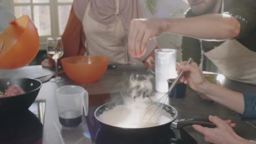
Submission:
M 243 144 L 243 141 L 245 141 L 235 133 L 234 129 L 226 121 L 216 116 L 209 116 L 209 120 L 217 127 L 206 128 L 201 125 L 193 125 L 195 131 L 204 135 L 205 141 L 213 144 L 239 144 L 239 142 Z

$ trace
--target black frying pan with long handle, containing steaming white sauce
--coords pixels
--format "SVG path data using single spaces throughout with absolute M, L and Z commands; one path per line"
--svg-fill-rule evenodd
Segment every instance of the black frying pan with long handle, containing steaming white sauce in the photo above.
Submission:
M 150 104 L 160 104 L 155 101 L 149 101 Z M 176 120 L 176 117 L 178 115 L 178 112 L 176 111 L 175 108 L 171 107 L 168 104 L 163 104 L 163 109 L 168 112 L 172 119 L 168 121 L 167 123 L 164 123 L 162 125 L 157 125 L 157 126 L 152 126 L 152 127 L 145 127 L 145 128 L 122 128 L 122 127 L 117 127 L 115 125 L 110 125 L 108 123 L 104 123 L 100 120 L 100 116 L 107 110 L 113 109 L 114 107 L 118 105 L 123 105 L 124 101 L 117 101 L 117 102 L 109 102 L 107 104 L 101 105 L 98 109 L 96 109 L 94 116 L 96 117 L 96 120 L 104 127 L 107 128 L 111 131 L 120 131 L 120 130 L 125 130 L 125 132 L 132 132 L 132 133 L 152 133 L 152 132 L 159 132 L 163 131 L 166 128 L 183 128 L 187 125 L 202 125 L 208 128 L 215 128 L 216 125 L 211 123 L 208 119 L 202 119 L 202 118 L 190 118 L 190 119 L 181 119 L 181 120 Z M 118 114 L 117 114 L 118 115 Z M 114 117 L 114 116 L 113 116 Z M 120 131 L 122 132 L 122 131 Z M 124 131 L 123 131 L 124 132 Z

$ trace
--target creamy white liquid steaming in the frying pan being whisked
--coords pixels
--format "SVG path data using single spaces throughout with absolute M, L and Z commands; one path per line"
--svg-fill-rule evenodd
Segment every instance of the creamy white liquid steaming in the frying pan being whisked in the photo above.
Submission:
M 163 125 L 173 120 L 173 117 L 165 110 L 159 110 L 156 113 L 157 107 L 154 107 L 155 109 L 151 109 L 145 115 L 147 108 L 148 105 L 143 103 L 117 105 L 113 109 L 103 112 L 100 120 L 108 125 L 121 128 L 147 128 Z M 161 112 L 161 117 L 157 120 L 159 112 Z

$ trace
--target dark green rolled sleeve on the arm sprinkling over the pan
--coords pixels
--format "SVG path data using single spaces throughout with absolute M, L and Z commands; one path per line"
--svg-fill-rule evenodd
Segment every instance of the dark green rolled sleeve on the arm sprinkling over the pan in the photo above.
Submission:
M 241 29 L 237 39 L 247 37 L 256 28 L 256 0 L 235 0 L 225 13 L 240 22 Z

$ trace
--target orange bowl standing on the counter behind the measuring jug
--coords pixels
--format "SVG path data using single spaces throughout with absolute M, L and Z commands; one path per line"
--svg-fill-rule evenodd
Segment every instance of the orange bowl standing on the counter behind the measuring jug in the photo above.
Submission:
M 72 56 L 61 59 L 67 76 L 79 84 L 97 82 L 106 72 L 109 59 L 102 56 Z

